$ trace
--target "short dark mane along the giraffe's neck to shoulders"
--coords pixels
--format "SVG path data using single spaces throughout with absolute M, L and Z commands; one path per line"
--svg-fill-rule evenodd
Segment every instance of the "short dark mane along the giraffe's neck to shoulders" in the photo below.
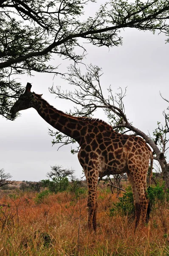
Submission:
M 107 122 L 99 119 L 99 118 L 92 118 L 92 117 L 83 117 L 83 116 L 71 116 L 69 114 L 64 113 L 61 110 L 56 109 L 54 106 L 51 106 L 45 99 L 43 99 L 39 94 L 34 93 L 42 102 L 44 102 L 46 105 L 49 105 L 53 110 L 55 110 L 57 113 L 60 113 L 61 115 L 64 116 L 70 116 L 72 119 L 76 119 L 76 120 L 84 120 L 84 121 L 91 121 L 91 122 L 99 122 L 100 124 L 105 125 L 109 130 L 113 131 L 113 128 L 111 125 L 109 125 Z

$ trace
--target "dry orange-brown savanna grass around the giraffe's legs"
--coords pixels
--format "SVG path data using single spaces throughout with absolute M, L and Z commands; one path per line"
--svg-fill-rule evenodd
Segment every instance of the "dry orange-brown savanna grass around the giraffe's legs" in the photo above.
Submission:
M 134 233 L 133 218 L 110 216 L 116 193 L 98 188 L 98 228 L 88 233 L 87 190 L 0 191 L 0 256 L 169 256 L 169 205 L 158 202 L 149 224 Z

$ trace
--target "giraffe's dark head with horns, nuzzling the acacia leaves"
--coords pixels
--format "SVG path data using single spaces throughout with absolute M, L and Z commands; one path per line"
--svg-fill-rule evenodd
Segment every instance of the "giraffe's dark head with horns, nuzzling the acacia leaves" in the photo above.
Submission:
M 12 119 L 14 119 L 18 111 L 32 108 L 34 106 L 36 95 L 35 93 L 31 92 L 31 87 L 32 85 L 30 83 L 27 83 L 25 92 L 20 96 L 20 98 L 14 103 L 13 107 L 11 108 L 10 112 Z

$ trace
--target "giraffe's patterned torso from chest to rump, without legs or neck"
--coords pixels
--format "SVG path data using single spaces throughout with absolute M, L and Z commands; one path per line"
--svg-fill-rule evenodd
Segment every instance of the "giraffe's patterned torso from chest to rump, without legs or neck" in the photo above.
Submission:
M 151 150 L 140 137 L 119 134 L 113 129 L 90 130 L 79 151 L 82 167 L 95 169 L 99 176 L 121 174 L 130 169 L 147 172 Z

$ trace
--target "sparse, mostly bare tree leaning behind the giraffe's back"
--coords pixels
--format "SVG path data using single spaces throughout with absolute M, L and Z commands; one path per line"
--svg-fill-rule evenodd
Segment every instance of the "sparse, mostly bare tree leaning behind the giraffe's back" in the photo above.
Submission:
M 169 148 L 169 113 L 163 112 L 164 125 L 158 122 L 158 127 L 153 132 L 153 137 L 148 137 L 144 132 L 135 128 L 134 125 L 127 119 L 125 107 L 123 103 L 126 89 L 123 92 L 119 88 L 119 92 L 113 94 L 111 86 L 107 89 L 108 93 L 104 96 L 100 77 L 102 75 L 101 69 L 97 66 L 88 66 L 87 72 L 82 74 L 81 70 L 76 66 L 70 66 L 69 75 L 65 79 L 75 87 L 74 91 L 62 91 L 59 86 L 56 90 L 52 87 L 51 93 L 55 93 L 56 97 L 67 99 L 76 104 L 71 115 L 74 116 L 92 116 L 93 112 L 98 108 L 103 109 L 107 120 L 112 125 L 113 129 L 122 134 L 134 134 L 141 136 L 146 143 L 148 143 L 154 153 L 154 159 L 157 160 L 161 166 L 163 180 L 165 180 L 166 187 L 169 188 L 169 163 L 166 160 L 166 151 Z M 165 99 L 166 100 L 166 99 Z M 167 101 L 167 100 L 166 100 Z M 167 111 L 169 108 L 167 109 Z M 49 131 L 50 135 L 54 137 L 53 144 L 61 143 L 62 145 L 73 143 L 74 141 L 62 134 L 61 132 Z M 72 153 L 76 153 L 79 148 L 73 148 Z

